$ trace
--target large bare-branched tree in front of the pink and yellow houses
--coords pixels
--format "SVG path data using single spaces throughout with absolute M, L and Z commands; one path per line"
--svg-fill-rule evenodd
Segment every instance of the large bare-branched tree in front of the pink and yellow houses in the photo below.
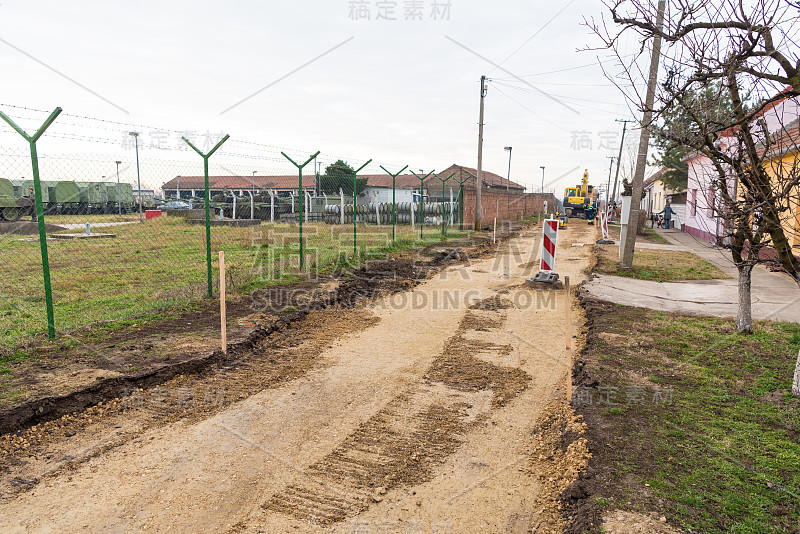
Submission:
M 800 47 L 792 40 L 800 23 L 797 0 L 668 0 L 662 27 L 655 0 L 605 1 L 611 21 L 587 21 L 603 48 L 617 55 L 621 73 L 607 76 L 653 122 L 676 111 L 681 127 L 659 135 L 704 158 L 703 178 L 713 192 L 708 209 L 724 221 L 725 246 L 739 272 L 738 331 L 752 331 L 751 273 L 767 250 L 800 285 L 800 260 L 791 233 L 781 224 L 797 203 L 800 182 L 797 113 L 788 103 L 800 95 Z M 661 36 L 664 75 L 648 109 L 637 88 L 643 71 L 636 58 L 623 61 L 620 37 L 635 34 L 640 54 Z M 713 91 L 718 91 L 713 98 Z M 711 95 L 693 98 L 692 95 Z M 719 113 L 715 102 L 729 100 Z M 780 110 L 782 113 L 778 113 Z M 655 124 L 650 125 L 655 126 Z

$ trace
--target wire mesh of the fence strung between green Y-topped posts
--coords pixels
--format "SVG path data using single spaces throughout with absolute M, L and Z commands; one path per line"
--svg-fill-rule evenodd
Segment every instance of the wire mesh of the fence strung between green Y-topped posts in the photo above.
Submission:
M 10 105 L 0 109 L 27 132 L 36 131 L 50 114 Z M 206 295 L 203 159 L 182 138 L 207 153 L 223 136 L 67 112 L 49 127 L 37 147 L 58 332 L 98 322 L 132 324 Z M 352 185 L 325 190 L 321 176 L 339 160 L 357 167 L 368 158 L 324 152 L 304 169 L 301 195 L 298 170 L 281 152 L 305 161 L 316 150 L 232 137 L 209 160 L 215 291 L 220 250 L 229 291 L 246 293 L 438 241 L 445 231 L 455 235 L 463 213 L 459 208 L 468 207 L 455 180 L 442 188 L 440 179 L 431 176 L 423 188 L 421 213 L 419 182 L 413 187 L 413 177 L 401 175 L 393 215 L 391 177 L 378 162 L 362 169 L 359 178 L 380 176 L 388 183 L 362 194 L 354 206 Z M 381 163 L 393 172 L 403 167 Z M 47 318 L 35 210 L 19 207 L 19 199 L 34 196 L 31 154 L 26 141 L 5 123 L 0 123 L 0 187 L 5 202 L 0 206 L 0 350 L 8 351 L 41 339 Z M 519 200 L 513 205 L 513 218 L 517 210 L 522 216 Z

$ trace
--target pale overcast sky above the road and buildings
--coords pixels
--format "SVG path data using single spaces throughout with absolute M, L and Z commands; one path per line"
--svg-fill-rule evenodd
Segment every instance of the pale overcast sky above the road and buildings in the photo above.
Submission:
M 581 24 L 601 14 L 596 0 L 0 1 L 0 109 L 12 116 L 61 106 L 353 164 L 475 167 L 486 74 L 484 168 L 505 175 L 512 146 L 514 181 L 538 189 L 544 165 L 561 191 L 584 168 L 604 185 L 614 119 L 634 118 L 598 53 L 577 51 L 597 44 Z

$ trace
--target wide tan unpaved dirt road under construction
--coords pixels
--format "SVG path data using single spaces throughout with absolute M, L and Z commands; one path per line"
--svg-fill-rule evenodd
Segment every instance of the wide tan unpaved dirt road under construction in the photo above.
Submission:
M 531 461 L 566 378 L 563 292 L 523 286 L 540 231 L 367 308 L 313 312 L 295 342 L 186 395 L 225 388 L 230 404 L 154 416 L 148 392 L 80 415 L 82 432 L 16 468 L 0 531 L 557 530 Z M 574 285 L 591 247 L 572 244 L 593 236 L 579 221 L 560 236 Z

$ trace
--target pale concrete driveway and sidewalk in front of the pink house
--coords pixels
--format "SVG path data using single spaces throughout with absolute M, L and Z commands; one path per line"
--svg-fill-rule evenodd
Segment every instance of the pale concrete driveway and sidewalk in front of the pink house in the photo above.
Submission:
M 594 297 L 627 306 L 691 315 L 736 317 L 738 272 L 730 260 L 730 252 L 678 230 L 657 231 L 671 245 L 642 243 L 641 248 L 692 252 L 713 263 L 730 278 L 660 283 L 599 275 L 584 284 L 585 290 Z M 800 323 L 800 288 L 789 275 L 756 266 L 751 290 L 753 319 Z

